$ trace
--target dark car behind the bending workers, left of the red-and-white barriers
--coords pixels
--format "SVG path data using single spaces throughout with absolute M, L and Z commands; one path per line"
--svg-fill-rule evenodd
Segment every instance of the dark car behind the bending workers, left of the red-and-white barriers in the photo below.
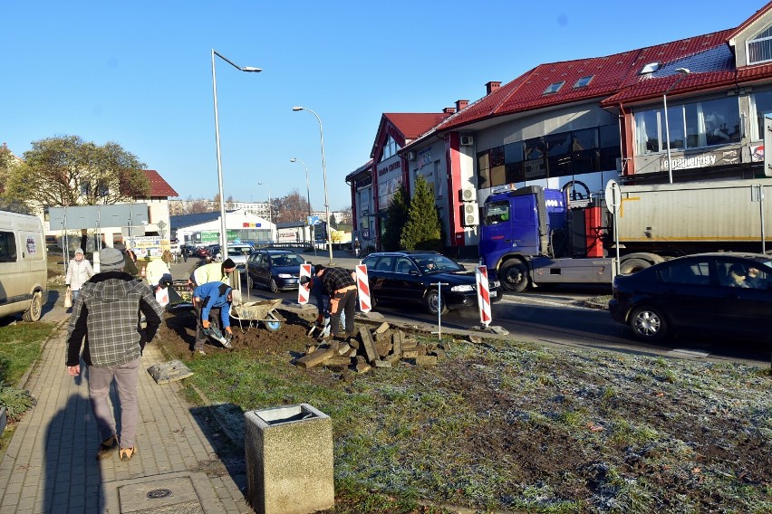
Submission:
M 297 289 L 304 258 L 289 250 L 257 250 L 246 260 L 246 286 L 276 292 Z

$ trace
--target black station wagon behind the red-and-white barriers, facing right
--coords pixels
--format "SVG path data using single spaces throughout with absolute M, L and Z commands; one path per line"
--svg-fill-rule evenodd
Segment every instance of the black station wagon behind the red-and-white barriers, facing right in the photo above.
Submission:
M 443 312 L 478 305 L 475 272 L 441 253 L 371 253 L 362 264 L 367 266 L 373 304 L 378 301 L 422 303 L 429 312 L 437 314 L 441 291 Z M 488 276 L 488 282 L 491 301 L 499 300 L 498 281 Z

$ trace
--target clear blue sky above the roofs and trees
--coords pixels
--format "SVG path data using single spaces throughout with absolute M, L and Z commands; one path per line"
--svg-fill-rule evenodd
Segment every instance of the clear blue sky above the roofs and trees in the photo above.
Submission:
M 478 100 L 542 62 L 642 48 L 736 27 L 764 2 L 179 0 L 4 2 L 0 143 L 76 135 L 115 141 L 182 198 L 217 193 L 211 49 L 225 195 L 296 189 L 330 208 L 370 158 L 382 112 Z M 258 186 L 263 182 L 267 186 Z

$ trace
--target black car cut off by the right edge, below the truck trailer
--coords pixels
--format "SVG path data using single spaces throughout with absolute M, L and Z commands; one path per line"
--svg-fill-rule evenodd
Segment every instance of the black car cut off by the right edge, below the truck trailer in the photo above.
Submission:
M 613 281 L 609 311 L 636 338 L 659 341 L 677 331 L 769 337 L 772 258 L 757 253 L 700 253 L 661 262 Z

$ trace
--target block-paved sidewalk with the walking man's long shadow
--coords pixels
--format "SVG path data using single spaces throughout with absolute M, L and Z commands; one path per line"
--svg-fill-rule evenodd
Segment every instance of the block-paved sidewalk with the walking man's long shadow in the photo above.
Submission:
M 178 278 L 182 271 L 172 270 Z M 60 328 L 24 383 L 37 405 L 0 462 L 0 514 L 253 512 L 246 476 L 228 474 L 182 399 L 181 384 L 159 386 L 147 372 L 165 362 L 153 343 L 140 361 L 138 453 L 130 462 L 117 452 L 96 460 L 100 438 L 87 376 L 68 376 L 64 366 L 70 315 L 62 301 L 46 306 L 43 320 Z M 111 400 L 117 403 L 114 391 Z

